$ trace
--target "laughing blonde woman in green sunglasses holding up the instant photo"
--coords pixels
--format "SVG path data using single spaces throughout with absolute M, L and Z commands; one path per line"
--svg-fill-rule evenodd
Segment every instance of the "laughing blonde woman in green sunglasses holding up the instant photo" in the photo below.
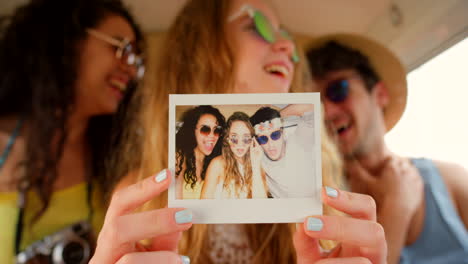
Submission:
M 296 224 L 192 227 L 189 210 L 165 208 L 172 177 L 163 170 L 169 93 L 304 91 L 307 82 L 302 81 L 306 70 L 303 60 L 297 62 L 294 43 L 272 8 L 260 0 L 188 1 L 161 54 L 153 73 L 156 86 L 145 91 L 147 101 L 140 104 L 143 151 L 120 158 L 125 164 L 125 158 L 139 157 L 138 182 L 114 193 L 91 264 L 189 263 L 179 253 L 192 263 L 385 263 L 384 232 L 376 223 L 375 202 L 369 196 L 324 189 L 323 202 L 350 217 L 310 216 L 297 228 Z M 332 175 L 340 171 L 336 152 L 326 138 L 322 149 L 323 182 L 332 185 Z M 151 208 L 132 213 L 148 201 Z M 138 242 L 142 239 L 150 243 L 143 246 Z M 318 239 L 340 244 L 322 254 Z

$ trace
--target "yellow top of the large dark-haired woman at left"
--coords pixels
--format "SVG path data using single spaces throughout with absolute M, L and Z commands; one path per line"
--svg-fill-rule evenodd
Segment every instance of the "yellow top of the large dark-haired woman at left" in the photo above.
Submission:
M 24 250 L 33 242 L 69 225 L 88 219 L 89 206 L 86 183 L 80 183 L 54 192 L 48 209 L 32 226 L 26 224 L 31 222 L 35 209 L 40 208 L 40 200 L 34 192 L 29 192 L 27 199 L 28 205 L 24 212 L 25 226 L 23 227 L 20 250 Z M 0 193 L 0 263 L 14 263 L 14 240 L 19 214 L 17 203 L 18 193 Z M 93 190 L 92 206 L 93 218 L 91 219 L 91 225 L 95 234 L 98 234 L 105 216 L 102 193 L 99 190 Z

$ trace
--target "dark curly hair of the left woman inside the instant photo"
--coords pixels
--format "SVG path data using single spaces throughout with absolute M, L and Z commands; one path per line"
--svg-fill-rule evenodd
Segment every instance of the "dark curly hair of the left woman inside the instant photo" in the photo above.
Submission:
M 184 180 L 186 183 L 190 184 L 191 188 L 195 187 L 197 182 L 196 166 L 195 166 L 195 152 L 194 149 L 197 146 L 197 140 L 195 138 L 195 128 L 197 126 L 198 120 L 202 115 L 209 114 L 213 115 L 218 122 L 218 125 L 224 128 L 226 127 L 226 119 L 219 112 L 217 108 L 214 108 L 211 105 L 200 105 L 192 109 L 187 110 L 182 117 L 182 127 L 176 134 L 176 176 L 179 177 L 180 173 L 183 170 L 183 164 L 185 163 L 185 172 Z M 203 160 L 203 169 L 201 172 L 201 178 L 205 179 L 206 169 L 210 164 L 210 161 L 221 155 L 222 147 L 222 135 L 220 135 L 218 141 L 216 142 L 213 151 L 209 156 L 206 156 Z

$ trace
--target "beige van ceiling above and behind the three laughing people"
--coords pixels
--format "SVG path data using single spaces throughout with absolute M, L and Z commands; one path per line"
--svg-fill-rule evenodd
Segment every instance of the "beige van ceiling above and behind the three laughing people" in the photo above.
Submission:
M 124 0 L 146 32 L 165 31 L 186 0 Z M 221 1 L 221 0 L 220 0 Z M 25 0 L 2 0 L 0 15 Z M 466 0 L 271 0 L 292 32 L 367 35 L 413 70 L 468 37 Z

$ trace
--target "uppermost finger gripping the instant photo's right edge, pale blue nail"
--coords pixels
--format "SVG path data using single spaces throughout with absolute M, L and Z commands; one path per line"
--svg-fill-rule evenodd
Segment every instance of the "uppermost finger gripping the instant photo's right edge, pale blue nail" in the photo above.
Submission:
M 322 189 L 322 199 L 325 204 L 354 218 L 377 221 L 377 206 L 375 200 L 369 195 L 326 186 Z

